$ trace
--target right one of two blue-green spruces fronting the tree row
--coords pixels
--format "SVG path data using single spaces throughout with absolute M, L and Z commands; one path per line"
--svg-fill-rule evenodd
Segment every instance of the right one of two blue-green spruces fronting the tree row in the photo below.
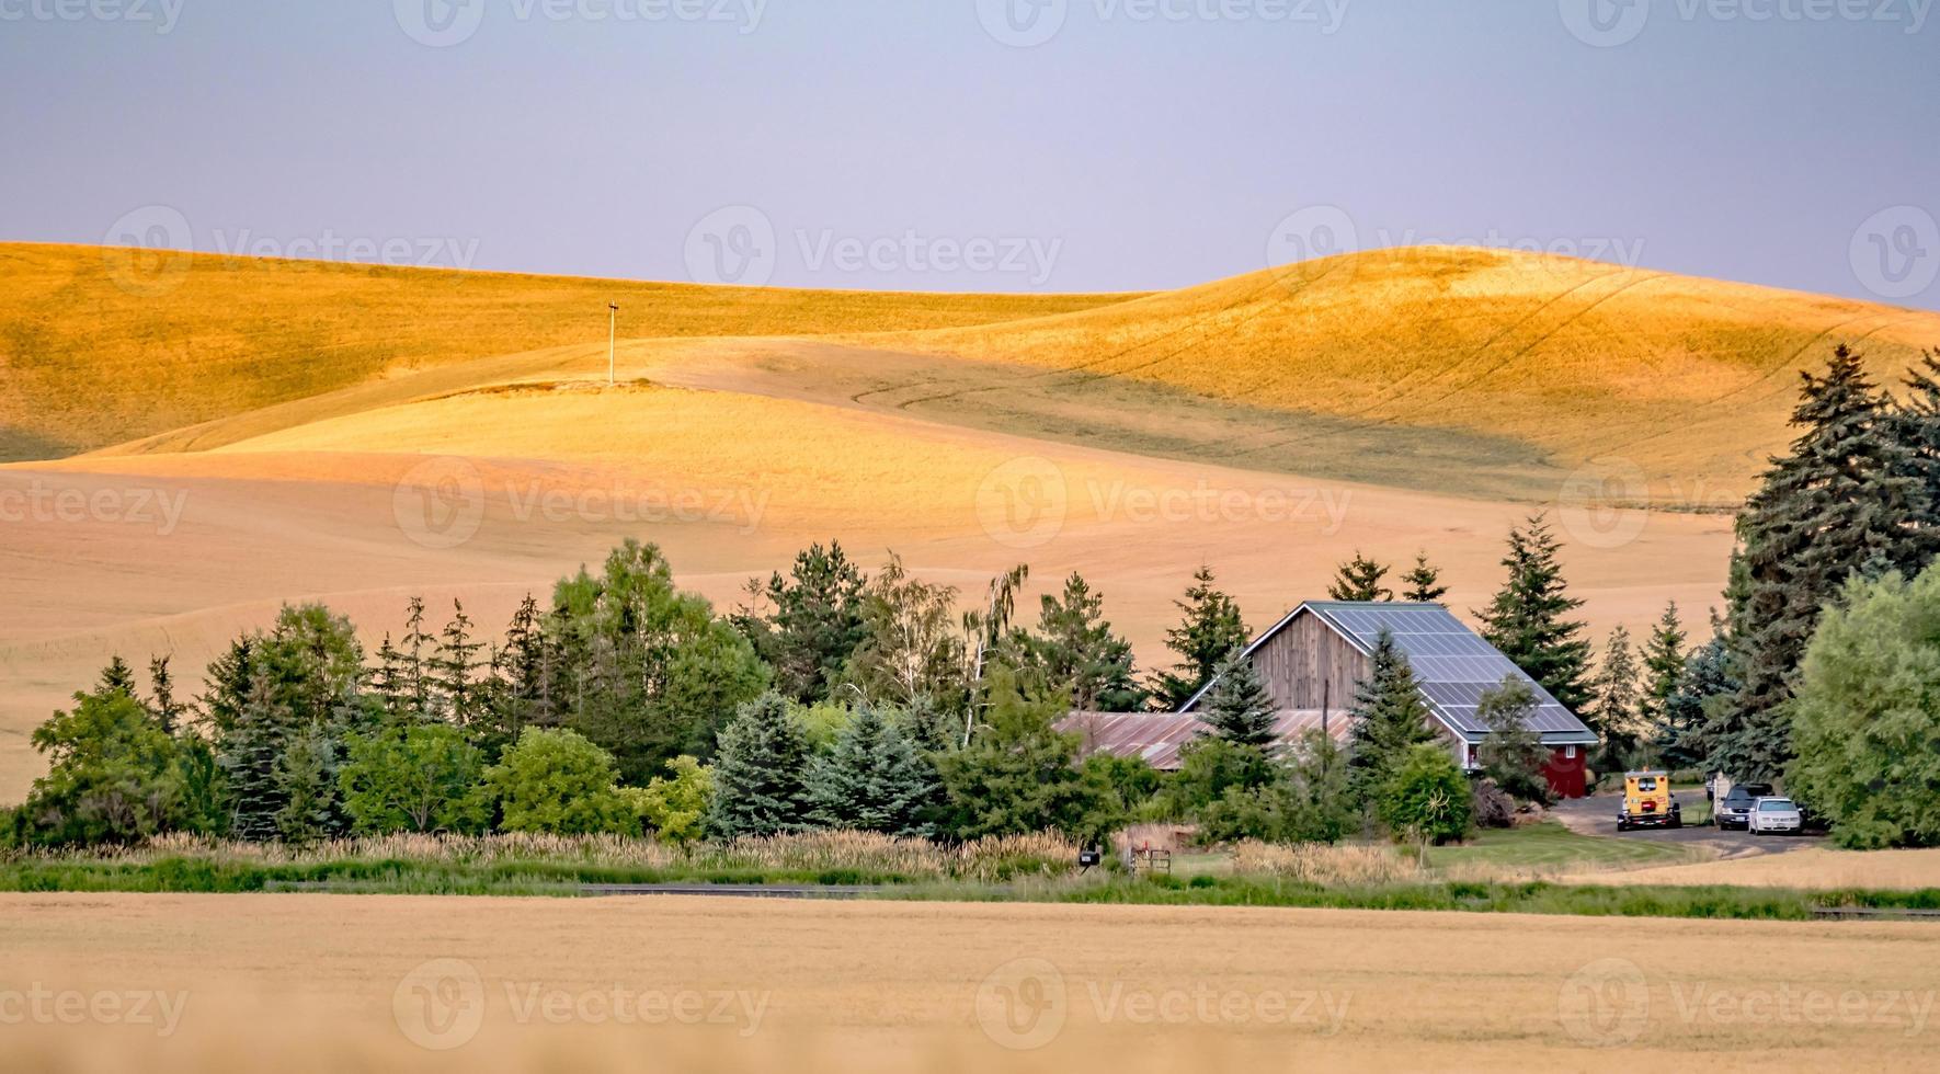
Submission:
M 865 706 L 809 766 L 807 791 L 817 824 L 927 837 L 939 783 L 908 735 Z

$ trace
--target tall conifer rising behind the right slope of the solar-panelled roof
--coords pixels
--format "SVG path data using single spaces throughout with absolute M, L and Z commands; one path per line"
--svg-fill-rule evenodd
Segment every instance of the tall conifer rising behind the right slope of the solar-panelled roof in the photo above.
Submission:
M 1556 562 L 1560 545 L 1544 516 L 1529 518 L 1527 529 L 1509 529 L 1509 553 L 1502 566 L 1509 568 L 1496 599 L 1482 620 L 1482 638 L 1502 649 L 1515 667 L 1542 684 L 1569 711 L 1583 711 L 1593 702 L 1585 684 L 1591 646 L 1581 638 L 1583 624 L 1566 618 L 1583 601 L 1569 597 Z

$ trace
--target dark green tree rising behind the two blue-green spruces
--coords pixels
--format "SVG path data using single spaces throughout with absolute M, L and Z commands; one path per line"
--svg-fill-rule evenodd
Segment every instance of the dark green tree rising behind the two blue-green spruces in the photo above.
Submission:
M 762 593 L 774 609 L 766 618 L 751 611 L 735 624 L 774 667 L 776 688 L 805 704 L 828 698 L 842 669 L 869 636 L 863 618 L 867 578 L 848 560 L 840 543 L 809 545 L 795 554 L 788 578 L 768 578 Z

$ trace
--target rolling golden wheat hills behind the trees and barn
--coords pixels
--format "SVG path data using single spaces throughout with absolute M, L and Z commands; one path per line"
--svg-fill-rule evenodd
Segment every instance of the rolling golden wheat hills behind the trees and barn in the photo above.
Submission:
M 1496 250 L 1164 295 L 712 289 L 0 246 L 0 801 L 95 669 L 190 682 L 283 601 L 497 628 L 621 539 L 718 607 L 811 541 L 966 595 L 1083 570 L 1143 667 L 1199 564 L 1259 628 L 1352 553 L 1457 611 L 1548 510 L 1600 636 L 1717 603 L 1730 510 L 1839 341 L 1940 316 Z M 607 382 L 605 302 L 623 304 Z M 89 448 L 85 454 L 74 454 Z

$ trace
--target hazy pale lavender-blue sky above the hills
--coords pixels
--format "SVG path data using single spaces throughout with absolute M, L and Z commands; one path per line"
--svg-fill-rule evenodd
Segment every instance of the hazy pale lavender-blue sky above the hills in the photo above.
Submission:
M 0 237 L 976 291 L 1449 240 L 1940 308 L 1932 4 L 0 0 Z

